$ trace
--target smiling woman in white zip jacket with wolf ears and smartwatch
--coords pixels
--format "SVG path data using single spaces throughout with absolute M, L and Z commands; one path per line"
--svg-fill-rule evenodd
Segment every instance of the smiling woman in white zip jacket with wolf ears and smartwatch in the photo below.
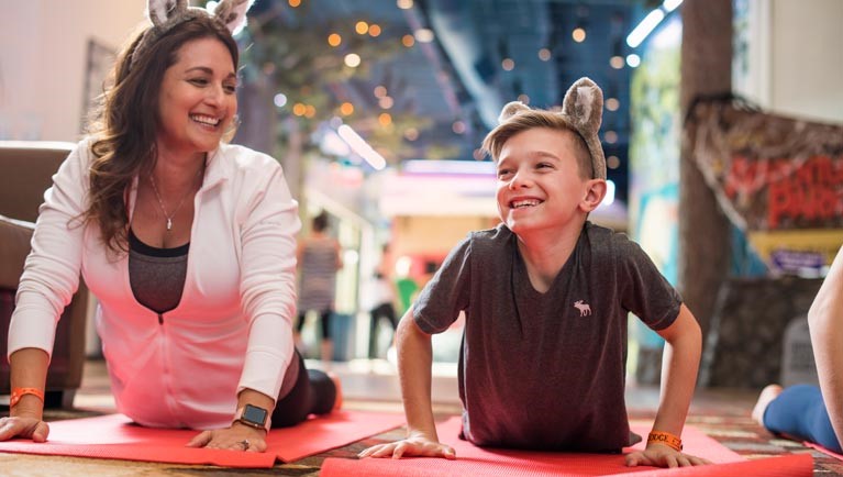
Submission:
M 167 3 L 149 1 L 153 25 L 121 54 L 101 124 L 45 195 L 9 331 L 0 440 L 47 439 L 49 353 L 80 271 L 100 302 L 118 410 L 138 424 L 263 452 L 270 426 L 336 400 L 292 346 L 300 222 L 281 168 L 221 143 L 237 110 L 231 31 L 251 2 L 214 14 Z

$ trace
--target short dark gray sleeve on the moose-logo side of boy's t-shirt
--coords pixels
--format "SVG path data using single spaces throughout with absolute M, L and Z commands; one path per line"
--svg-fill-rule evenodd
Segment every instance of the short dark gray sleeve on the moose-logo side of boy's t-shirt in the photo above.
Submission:
M 683 302 L 679 293 L 639 244 L 621 235 L 617 245 L 623 308 L 653 330 L 664 330 L 673 324 Z

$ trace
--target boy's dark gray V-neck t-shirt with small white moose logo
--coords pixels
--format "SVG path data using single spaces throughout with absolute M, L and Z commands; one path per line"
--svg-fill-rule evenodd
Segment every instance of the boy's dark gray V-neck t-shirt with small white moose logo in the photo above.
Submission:
M 466 313 L 463 434 L 486 446 L 620 451 L 630 440 L 628 312 L 662 330 L 681 298 L 637 244 L 590 222 L 540 293 L 515 240 L 503 224 L 473 232 L 414 304 L 417 324 L 431 334 Z

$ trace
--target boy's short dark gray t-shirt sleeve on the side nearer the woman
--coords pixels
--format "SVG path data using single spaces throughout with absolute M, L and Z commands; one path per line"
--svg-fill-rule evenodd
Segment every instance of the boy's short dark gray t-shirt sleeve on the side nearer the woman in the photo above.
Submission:
M 442 267 L 424 286 L 413 304 L 413 319 L 430 334 L 442 333 L 468 308 L 472 289 L 472 239 L 451 251 Z

